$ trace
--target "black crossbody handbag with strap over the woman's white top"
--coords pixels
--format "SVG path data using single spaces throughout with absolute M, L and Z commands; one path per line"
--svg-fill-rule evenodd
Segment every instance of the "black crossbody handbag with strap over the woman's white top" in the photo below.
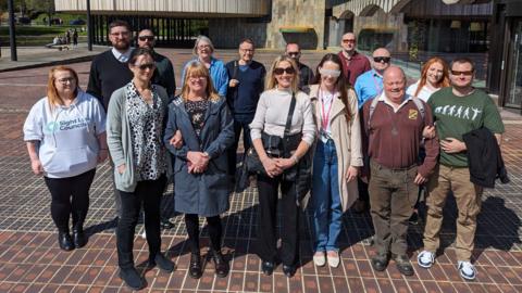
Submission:
M 291 101 L 290 101 L 290 107 L 288 110 L 288 116 L 286 118 L 286 125 L 285 125 L 285 132 L 283 138 L 278 136 L 271 136 L 268 135 L 263 131 L 261 136 L 261 141 L 263 142 L 263 148 L 264 151 L 266 152 L 266 155 L 270 157 L 285 157 L 285 149 L 287 143 L 285 142 L 288 138 L 295 137 L 295 136 L 289 136 L 290 133 L 290 126 L 291 126 L 291 118 L 294 116 L 294 110 L 296 109 L 296 95 L 295 93 L 291 94 Z M 296 135 L 297 136 L 297 135 Z M 300 133 L 299 133 L 300 136 Z M 247 155 L 245 157 L 245 167 L 249 174 L 257 174 L 257 175 L 264 175 L 268 176 L 266 170 L 264 169 L 263 164 L 261 163 L 261 160 L 259 158 L 258 152 L 256 152 L 256 149 L 250 146 L 247 151 Z

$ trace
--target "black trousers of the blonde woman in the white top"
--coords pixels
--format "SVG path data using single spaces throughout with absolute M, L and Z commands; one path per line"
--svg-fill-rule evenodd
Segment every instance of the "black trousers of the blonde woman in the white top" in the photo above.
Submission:
M 257 231 L 258 255 L 264 262 L 275 262 L 277 257 L 277 193 L 281 186 L 281 260 L 283 265 L 295 265 L 299 251 L 299 207 L 297 206 L 296 183 L 258 176 L 259 226 Z

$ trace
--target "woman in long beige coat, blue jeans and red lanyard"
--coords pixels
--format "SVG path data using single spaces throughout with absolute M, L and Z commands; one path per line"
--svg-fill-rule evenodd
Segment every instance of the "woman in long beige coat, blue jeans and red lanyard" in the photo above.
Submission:
M 310 100 L 319 133 L 312 171 L 313 263 L 324 266 L 327 260 L 337 267 L 343 213 L 359 198 L 357 176 L 363 162 L 357 95 L 346 86 L 337 54 L 328 53 L 319 63 Z

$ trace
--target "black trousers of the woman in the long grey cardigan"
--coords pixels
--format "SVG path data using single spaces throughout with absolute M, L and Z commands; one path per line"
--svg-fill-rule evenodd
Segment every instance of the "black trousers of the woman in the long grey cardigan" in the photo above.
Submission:
M 117 221 L 116 247 L 120 268 L 134 267 L 134 233 L 138 222 L 141 205 L 145 211 L 145 230 L 149 244 L 149 259 L 153 259 L 161 249 L 160 202 L 166 177 L 157 180 L 139 181 L 134 192 L 120 190 L 122 215 Z

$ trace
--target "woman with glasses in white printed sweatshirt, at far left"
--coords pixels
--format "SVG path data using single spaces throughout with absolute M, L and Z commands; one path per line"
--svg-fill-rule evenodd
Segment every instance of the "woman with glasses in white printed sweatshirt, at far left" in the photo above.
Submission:
M 33 173 L 44 175 L 51 192 L 51 216 L 58 228 L 60 249 L 72 251 L 84 246 L 89 189 L 96 166 L 107 158 L 108 149 L 103 106 L 79 89 L 78 75 L 73 68 L 51 68 L 47 97 L 30 109 L 24 124 L 24 140 Z

